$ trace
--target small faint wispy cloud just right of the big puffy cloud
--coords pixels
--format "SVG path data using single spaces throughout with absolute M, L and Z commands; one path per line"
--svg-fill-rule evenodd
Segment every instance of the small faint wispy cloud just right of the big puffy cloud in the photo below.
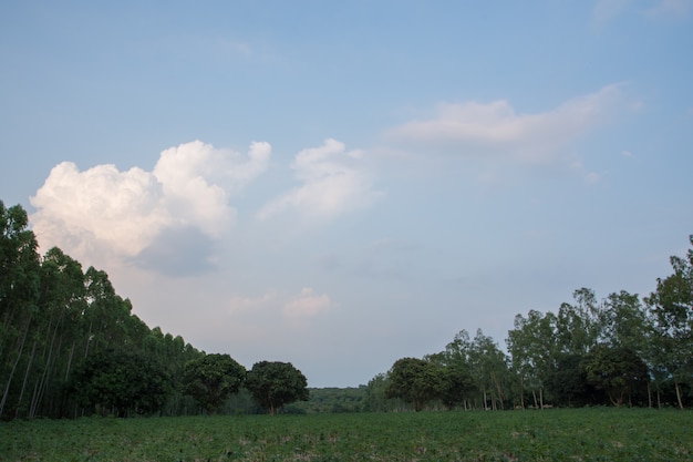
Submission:
M 291 164 L 302 186 L 266 204 L 258 217 L 269 218 L 297 209 L 318 218 L 331 218 L 370 204 L 377 195 L 361 165 L 362 151 L 346 151 L 343 143 L 325 140 L 322 146 L 299 152 Z

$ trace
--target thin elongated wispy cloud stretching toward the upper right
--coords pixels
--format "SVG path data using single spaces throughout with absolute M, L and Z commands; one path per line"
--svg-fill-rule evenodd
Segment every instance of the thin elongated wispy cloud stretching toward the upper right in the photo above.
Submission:
M 622 84 L 565 102 L 555 110 L 521 114 L 505 100 L 442 103 L 437 116 L 385 133 L 387 140 L 462 155 L 509 155 L 520 162 L 552 161 L 560 148 L 608 120 L 622 99 Z

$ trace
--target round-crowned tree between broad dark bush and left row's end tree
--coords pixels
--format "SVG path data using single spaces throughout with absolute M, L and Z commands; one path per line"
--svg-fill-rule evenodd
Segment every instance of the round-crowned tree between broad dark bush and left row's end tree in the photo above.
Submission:
M 185 392 L 208 412 L 214 413 L 236 393 L 246 376 L 246 368 L 229 355 L 205 355 L 185 365 Z

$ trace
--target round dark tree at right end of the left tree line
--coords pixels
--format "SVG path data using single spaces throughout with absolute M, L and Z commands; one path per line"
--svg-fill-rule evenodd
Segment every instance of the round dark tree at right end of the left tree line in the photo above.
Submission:
M 256 401 L 275 415 L 282 405 L 308 401 L 308 380 L 290 362 L 260 361 L 246 377 L 246 388 Z

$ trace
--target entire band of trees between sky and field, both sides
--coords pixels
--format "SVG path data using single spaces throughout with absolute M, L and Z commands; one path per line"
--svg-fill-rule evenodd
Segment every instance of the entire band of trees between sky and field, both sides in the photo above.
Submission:
M 581 288 L 556 312 L 517 315 L 506 349 L 462 330 L 368 384 L 309 389 L 291 363 L 246 370 L 149 328 L 103 270 L 39 255 L 21 206 L 0 201 L 0 226 L 1 420 L 693 403 L 693 249 L 647 297 Z

